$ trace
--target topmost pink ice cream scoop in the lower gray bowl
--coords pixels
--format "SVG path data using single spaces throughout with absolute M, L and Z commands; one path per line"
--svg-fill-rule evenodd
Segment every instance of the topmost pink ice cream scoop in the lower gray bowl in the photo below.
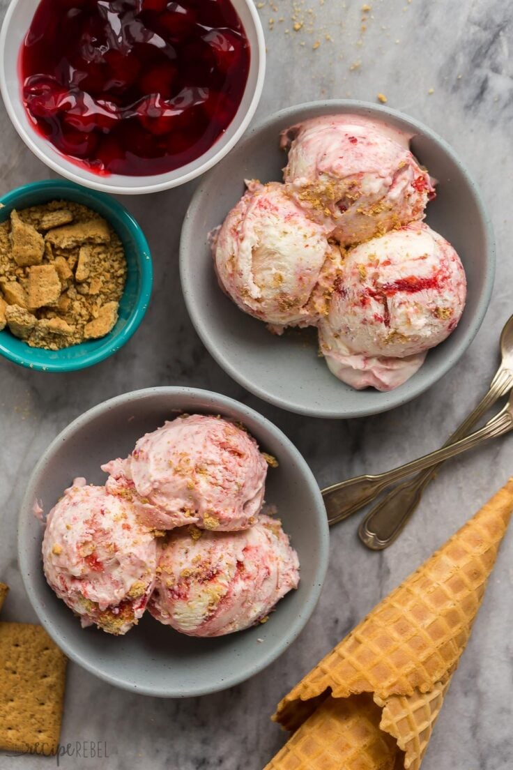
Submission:
M 245 430 L 219 417 L 177 417 L 135 444 L 125 460 L 102 470 L 108 490 L 145 504 L 145 521 L 161 529 L 197 524 L 240 530 L 264 501 L 268 463 Z

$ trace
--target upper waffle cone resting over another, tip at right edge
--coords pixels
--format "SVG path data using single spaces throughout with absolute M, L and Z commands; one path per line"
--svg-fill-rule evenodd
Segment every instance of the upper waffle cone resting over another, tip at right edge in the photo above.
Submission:
M 356 696 L 368 693 L 381 709 L 381 733 L 396 742 L 396 765 L 391 767 L 418 770 L 511 510 L 513 479 L 328 653 L 283 698 L 273 719 L 288 730 L 300 728 L 304 736 L 311 715 L 327 708 L 328 696 L 330 701 L 359 703 Z M 329 713 L 336 720 L 335 712 Z M 304 762 L 268 765 L 273 770 L 316 767 Z M 328 767 L 324 763 L 323 770 Z M 352 770 L 353 765 L 347 767 Z M 381 770 L 381 765 L 368 767 Z

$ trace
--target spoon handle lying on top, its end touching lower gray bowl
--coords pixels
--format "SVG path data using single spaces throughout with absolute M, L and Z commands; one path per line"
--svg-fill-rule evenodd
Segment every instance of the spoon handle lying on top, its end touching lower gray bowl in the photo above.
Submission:
M 389 484 L 400 481 L 406 476 L 416 473 L 418 470 L 424 470 L 431 465 L 440 463 L 442 460 L 448 460 L 449 457 L 455 457 L 465 450 L 476 447 L 482 441 L 495 436 L 501 436 L 513 427 L 513 417 L 509 411 L 509 404 L 502 409 L 495 417 L 492 417 L 488 423 L 475 433 L 450 444 L 448 447 L 441 447 L 435 452 L 425 454 L 418 460 L 411 460 L 410 463 L 401 465 L 392 470 L 388 470 L 379 476 L 358 476 L 341 484 L 335 484 L 333 487 L 323 490 L 326 510 L 328 514 L 328 524 L 336 524 L 338 521 L 347 518 L 358 508 L 369 502 L 376 494 Z M 338 510 L 333 503 L 338 501 Z

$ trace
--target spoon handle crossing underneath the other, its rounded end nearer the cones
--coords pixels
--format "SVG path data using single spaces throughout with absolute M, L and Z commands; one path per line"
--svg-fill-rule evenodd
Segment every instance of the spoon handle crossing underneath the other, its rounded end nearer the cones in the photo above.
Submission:
M 488 393 L 448 438 L 444 446 L 447 447 L 466 436 L 475 423 L 481 420 L 488 409 L 508 390 L 511 390 L 511 387 L 513 387 L 513 374 L 507 368 L 500 367 L 491 381 Z M 441 462 L 428 470 L 421 471 L 413 479 L 399 484 L 372 508 L 358 529 L 360 539 L 366 546 L 373 551 L 382 551 L 395 541 L 418 506 L 425 488 L 435 478 L 440 466 Z

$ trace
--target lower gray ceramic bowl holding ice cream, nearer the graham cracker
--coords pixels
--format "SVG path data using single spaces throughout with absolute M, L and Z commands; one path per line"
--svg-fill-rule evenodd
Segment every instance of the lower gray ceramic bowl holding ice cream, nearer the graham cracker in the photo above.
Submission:
M 278 458 L 268 474 L 266 500 L 278 507 L 298 551 L 301 581 L 264 625 L 216 639 L 178 634 L 145 614 L 124 637 L 80 627 L 45 581 L 42 526 L 45 513 L 75 476 L 103 484 L 100 464 L 124 457 L 135 441 L 182 411 L 222 414 L 241 421 L 262 449 Z M 28 482 L 18 524 L 18 557 L 28 598 L 56 644 L 79 665 L 112 685 L 145 695 L 185 698 L 222 690 L 255 675 L 278 658 L 315 608 L 328 564 L 328 524 L 315 478 L 287 437 L 265 417 L 230 398 L 191 388 L 138 390 L 101 403 L 52 442 Z

